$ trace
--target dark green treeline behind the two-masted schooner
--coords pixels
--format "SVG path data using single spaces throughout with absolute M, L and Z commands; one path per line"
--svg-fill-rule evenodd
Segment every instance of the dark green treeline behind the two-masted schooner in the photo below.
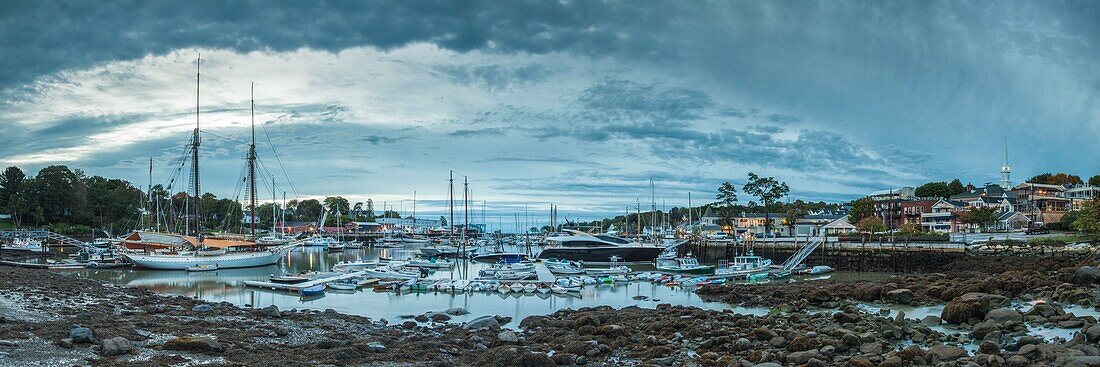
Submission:
M 87 234 L 92 229 L 114 234 L 136 229 L 183 231 L 188 200 L 194 196 L 169 189 L 154 185 L 143 192 L 127 180 L 87 176 L 64 165 L 42 168 L 33 177 L 19 167 L 8 167 L 0 173 L 0 213 L 11 214 L 16 226 L 48 226 L 68 234 Z M 238 199 L 204 193 L 202 230 L 241 232 L 248 208 Z M 257 205 L 257 225 L 266 229 L 273 221 L 317 222 L 326 210 L 329 216 L 324 225 L 399 216 L 392 210 L 376 214 L 370 199 L 350 205 L 342 197 L 327 197 L 323 201 L 290 200 L 285 208 L 278 207 L 282 204 L 272 202 Z

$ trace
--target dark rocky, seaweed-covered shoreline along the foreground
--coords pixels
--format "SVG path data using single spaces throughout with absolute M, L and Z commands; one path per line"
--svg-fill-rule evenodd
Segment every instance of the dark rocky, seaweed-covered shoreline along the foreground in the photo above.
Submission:
M 45 270 L 0 267 L 0 360 L 13 366 L 1097 366 L 1100 273 L 1056 258 L 966 258 L 883 281 L 734 285 L 708 300 L 465 324 L 238 308 Z M 1032 305 L 1026 301 L 1043 300 Z M 876 312 L 943 305 L 922 320 Z M 943 319 L 943 320 L 941 320 Z M 946 320 L 946 321 L 944 321 Z M 950 329 L 945 323 L 954 323 Z M 518 323 L 518 325 L 517 325 Z M 519 326 L 509 329 L 507 326 Z M 1046 340 L 1034 327 L 1072 333 Z M 969 349 L 969 351 L 968 351 Z

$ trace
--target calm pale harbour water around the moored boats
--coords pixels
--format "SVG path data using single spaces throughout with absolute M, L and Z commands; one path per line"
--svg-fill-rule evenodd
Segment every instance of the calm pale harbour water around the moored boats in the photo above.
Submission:
M 578 309 L 582 307 L 612 305 L 623 308 L 638 305 L 653 308 L 658 303 L 694 305 L 703 309 L 734 309 L 740 313 L 762 314 L 767 309 L 730 308 L 721 302 L 704 302 L 694 292 L 670 288 L 649 282 L 630 282 L 618 286 L 587 287 L 576 296 L 556 294 L 501 294 L 492 293 L 436 293 L 414 292 L 394 293 L 375 292 L 370 289 L 359 291 L 329 290 L 320 298 L 304 299 L 285 291 L 263 290 L 244 286 L 245 280 L 267 280 L 273 274 L 326 271 L 340 262 L 370 260 L 380 257 L 407 258 L 417 248 L 364 248 L 348 249 L 342 253 L 329 253 L 319 247 L 298 248 L 279 262 L 278 265 L 246 268 L 224 269 L 211 273 L 170 271 L 170 270 L 77 270 L 78 275 L 110 281 L 112 283 L 148 289 L 158 293 L 194 297 L 208 301 L 226 301 L 238 305 L 251 304 L 263 308 L 270 304 L 279 309 L 333 309 L 340 312 L 359 314 L 375 319 L 396 321 L 403 314 L 420 314 L 429 311 L 443 311 L 449 308 L 464 308 L 470 315 L 455 318 L 462 322 L 486 314 L 513 316 L 518 321 L 534 314 L 548 314 L 561 309 Z M 460 260 L 452 270 L 438 270 L 429 278 L 433 279 L 472 279 L 477 270 L 488 267 L 487 264 Z M 651 266 L 632 266 L 636 270 L 652 269 Z

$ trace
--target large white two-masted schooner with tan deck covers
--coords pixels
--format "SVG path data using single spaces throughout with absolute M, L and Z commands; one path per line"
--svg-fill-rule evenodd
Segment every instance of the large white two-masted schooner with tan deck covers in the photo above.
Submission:
M 135 231 L 122 238 L 127 257 L 134 266 L 150 269 L 185 270 L 188 268 L 244 268 L 278 263 L 295 245 L 275 247 L 257 246 L 252 241 L 206 238 L 202 234 L 202 208 L 199 180 L 199 86 L 200 64 L 196 64 L 195 86 L 195 131 L 191 136 L 191 182 L 193 196 L 187 198 L 186 230 L 183 234 Z M 249 149 L 249 184 L 251 189 L 252 238 L 255 238 L 255 99 L 252 101 L 252 144 Z M 194 221 L 194 227 L 193 225 Z

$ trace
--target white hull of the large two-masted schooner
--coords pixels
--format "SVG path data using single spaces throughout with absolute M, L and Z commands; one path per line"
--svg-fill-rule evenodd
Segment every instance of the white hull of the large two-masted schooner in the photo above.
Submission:
M 160 270 L 184 270 L 189 267 L 217 266 L 219 269 L 251 268 L 278 263 L 283 252 L 229 253 L 216 256 L 174 256 L 123 254 L 136 267 Z

